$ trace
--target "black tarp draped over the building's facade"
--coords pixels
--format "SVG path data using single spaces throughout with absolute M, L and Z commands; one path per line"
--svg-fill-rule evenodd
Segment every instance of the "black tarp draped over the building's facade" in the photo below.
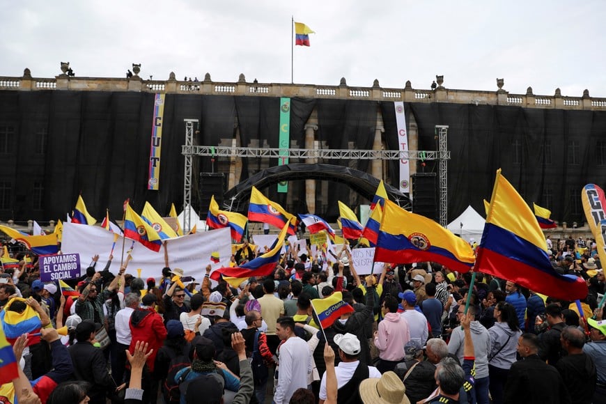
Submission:
M 160 191 L 148 191 L 153 94 L 98 91 L 0 91 L 0 219 L 63 219 L 82 194 L 96 217 L 109 208 L 115 216 L 124 199 L 140 210 L 145 201 L 165 213 L 182 204 L 185 143 L 183 119 L 200 121 L 196 143 L 218 145 L 233 139 L 242 146 L 278 146 L 279 98 L 167 94 L 162 133 Z M 381 114 L 387 148 L 397 150 L 393 103 L 364 100 L 291 100 L 291 145 L 304 147 L 304 126 L 318 114 L 316 140 L 329 148 L 372 148 Z M 483 211 L 495 171 L 525 196 L 552 210 L 559 221 L 583 222 L 580 191 L 606 180 L 606 111 L 525 109 L 522 107 L 405 103 L 407 124 L 414 118 L 419 150 L 437 150 L 435 125 L 449 125 L 449 217 L 471 204 Z M 368 171 L 368 160 L 329 162 Z M 397 186 L 397 162 L 387 162 Z M 277 162 L 270 162 L 270 166 Z M 261 169 L 261 159 L 242 161 L 240 180 Z M 210 171 L 200 158 L 199 171 Z M 425 171 L 436 171 L 427 162 Z M 419 167 L 421 171 L 421 167 Z M 293 192 L 302 187 L 293 187 Z M 345 199 L 342 183 L 329 187 L 327 208 Z M 270 187 L 280 203 L 285 194 Z M 304 195 L 298 198 L 304 201 Z M 334 203 L 330 203 L 334 201 Z M 359 199 L 349 201 L 352 205 Z M 304 210 L 304 203 L 300 204 Z M 114 219 L 119 219 L 114 217 Z

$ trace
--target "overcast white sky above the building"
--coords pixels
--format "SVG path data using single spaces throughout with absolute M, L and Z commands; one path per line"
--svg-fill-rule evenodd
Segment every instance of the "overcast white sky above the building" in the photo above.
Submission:
M 291 16 L 316 33 L 295 47 L 295 83 L 606 97 L 606 1 L 2 1 L 0 76 L 290 82 Z

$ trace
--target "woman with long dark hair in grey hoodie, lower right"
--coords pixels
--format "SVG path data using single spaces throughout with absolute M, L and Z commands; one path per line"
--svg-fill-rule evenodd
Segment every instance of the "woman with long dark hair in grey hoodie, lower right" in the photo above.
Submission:
M 488 354 L 488 372 L 490 373 L 490 396 L 493 404 L 504 402 L 505 382 L 511 364 L 518 352 L 518 338 L 522 335 L 518 324 L 518 315 L 507 302 L 498 302 L 494 316 L 497 322 L 488 329 L 490 334 L 490 352 Z

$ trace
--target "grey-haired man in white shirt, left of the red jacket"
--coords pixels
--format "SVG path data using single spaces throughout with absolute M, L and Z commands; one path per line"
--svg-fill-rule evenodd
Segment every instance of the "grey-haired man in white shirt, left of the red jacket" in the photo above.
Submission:
M 124 369 L 126 367 L 126 353 L 130 347 L 132 335 L 130 334 L 130 315 L 139 307 L 141 297 L 137 293 L 127 293 L 124 297 L 124 309 L 119 310 L 114 318 L 116 327 L 116 355 L 111 357 L 111 375 L 116 383 L 122 384 Z

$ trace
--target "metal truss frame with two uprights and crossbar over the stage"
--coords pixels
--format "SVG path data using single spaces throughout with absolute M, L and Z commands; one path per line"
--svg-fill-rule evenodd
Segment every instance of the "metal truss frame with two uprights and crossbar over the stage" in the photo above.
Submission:
M 192 206 L 192 167 L 194 156 L 211 157 L 267 157 L 285 159 L 326 159 L 326 160 L 438 160 L 439 162 L 439 197 L 440 224 L 446 227 L 448 220 L 448 182 L 446 181 L 447 162 L 450 151 L 446 150 L 446 134 L 448 126 L 436 125 L 439 147 L 435 150 L 338 150 L 311 148 L 253 148 L 230 146 L 194 146 L 195 127 L 197 119 L 184 119 L 185 145 L 181 146 L 181 154 L 185 156 L 185 178 L 183 180 L 183 205 L 189 206 L 183 213 L 183 231 L 191 230 Z M 413 201 L 414 203 L 414 201 Z

